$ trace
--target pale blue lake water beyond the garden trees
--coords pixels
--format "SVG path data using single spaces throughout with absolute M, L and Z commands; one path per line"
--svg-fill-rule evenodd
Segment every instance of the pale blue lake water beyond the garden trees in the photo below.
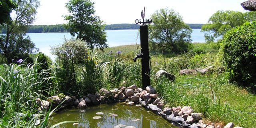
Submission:
M 204 42 L 204 33 L 200 32 L 201 29 L 192 30 L 192 42 Z M 110 47 L 136 44 L 137 33 L 138 30 L 106 30 L 107 44 Z M 28 33 L 27 35 L 35 43 L 36 48 L 50 56 L 52 60 L 54 60 L 54 56 L 50 54 L 51 46 L 62 44 L 64 37 L 67 39 L 72 38 L 69 33 Z M 140 44 L 140 38 L 138 38 L 138 44 Z

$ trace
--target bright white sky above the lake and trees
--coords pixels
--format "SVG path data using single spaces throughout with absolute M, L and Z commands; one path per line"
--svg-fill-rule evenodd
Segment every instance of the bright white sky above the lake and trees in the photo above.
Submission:
M 68 0 L 39 0 L 36 21 L 33 25 L 64 24 L 62 16 L 68 15 L 65 4 Z M 105 24 L 135 24 L 145 9 L 145 18 L 150 18 L 156 10 L 172 8 L 188 24 L 206 24 L 218 10 L 246 12 L 241 3 L 246 0 L 91 0 L 95 15 Z M 154 21 L 153 21 L 154 22 Z

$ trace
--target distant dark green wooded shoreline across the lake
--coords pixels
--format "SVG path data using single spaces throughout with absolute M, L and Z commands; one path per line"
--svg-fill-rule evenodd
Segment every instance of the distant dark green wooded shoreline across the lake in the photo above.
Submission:
M 201 29 L 204 24 L 187 24 L 191 29 Z M 139 24 L 107 24 L 105 30 L 127 30 L 127 29 L 139 29 Z M 53 33 L 53 32 L 69 32 L 62 24 L 56 25 L 29 25 L 26 33 Z M 6 33 L 6 30 L 2 28 L 2 34 Z

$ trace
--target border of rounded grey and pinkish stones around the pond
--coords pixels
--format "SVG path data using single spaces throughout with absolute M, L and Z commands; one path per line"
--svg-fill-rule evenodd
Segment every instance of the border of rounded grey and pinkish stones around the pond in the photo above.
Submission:
M 214 127 L 213 125 L 205 124 L 202 120 L 204 115 L 202 113 L 193 113 L 193 109 L 190 106 L 178 106 L 172 108 L 163 108 L 164 100 L 159 98 L 160 95 L 156 94 L 156 90 L 147 86 L 146 90 L 138 88 L 135 84 L 126 88 L 122 86 L 119 90 L 115 88 L 114 90 L 106 90 L 104 88 L 100 89 L 99 93 L 88 94 L 83 96 L 79 100 L 76 96 L 52 96 L 46 100 L 36 99 L 36 103 L 41 109 L 49 109 L 50 105 L 52 108 L 59 107 L 69 108 L 75 106 L 77 108 L 83 109 L 87 106 L 108 104 L 114 102 L 127 102 L 128 105 L 141 104 L 144 108 L 151 110 L 155 114 L 162 116 L 168 122 L 171 122 L 175 126 L 181 128 L 220 128 L 220 126 Z M 232 122 L 226 124 L 224 128 L 233 128 L 234 124 Z M 234 127 L 242 128 L 242 127 Z

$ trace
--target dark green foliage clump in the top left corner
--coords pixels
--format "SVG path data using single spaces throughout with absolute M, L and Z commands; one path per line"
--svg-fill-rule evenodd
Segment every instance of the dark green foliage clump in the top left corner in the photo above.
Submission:
M 0 0 L 0 25 L 11 21 L 10 13 L 15 8 L 12 0 Z

